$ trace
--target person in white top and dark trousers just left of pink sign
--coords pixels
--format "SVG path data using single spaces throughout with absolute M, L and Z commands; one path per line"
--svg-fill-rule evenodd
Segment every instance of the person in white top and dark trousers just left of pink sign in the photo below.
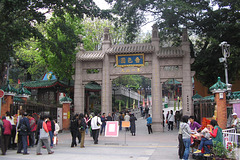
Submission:
M 99 130 L 101 128 L 101 125 L 102 125 L 101 119 L 100 117 L 98 117 L 98 113 L 95 113 L 91 120 L 91 128 L 92 128 L 94 144 L 98 144 L 98 136 L 99 136 Z

